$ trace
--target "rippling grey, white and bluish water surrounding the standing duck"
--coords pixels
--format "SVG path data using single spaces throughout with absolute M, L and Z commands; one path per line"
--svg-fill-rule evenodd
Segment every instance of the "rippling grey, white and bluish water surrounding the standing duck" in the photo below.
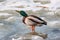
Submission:
M 19 40 L 22 35 L 24 36 L 26 33 L 31 32 L 22 23 L 22 16 L 15 10 L 24 10 L 29 15 L 37 15 L 47 21 L 47 26 L 36 27 L 36 32 L 48 34 L 48 37 L 43 39 L 33 35 L 31 40 L 60 40 L 60 6 L 58 6 L 58 2 L 60 1 L 54 0 L 52 3 L 49 1 L 50 4 L 41 4 L 38 2 L 34 3 L 32 0 L 0 0 L 0 40 Z M 20 8 L 21 5 L 24 5 L 23 3 L 25 4 L 24 8 Z M 47 6 L 48 8 L 36 7 L 40 5 Z

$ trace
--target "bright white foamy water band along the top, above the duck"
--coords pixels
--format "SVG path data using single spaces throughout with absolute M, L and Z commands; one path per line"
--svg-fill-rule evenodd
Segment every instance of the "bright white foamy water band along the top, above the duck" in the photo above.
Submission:
M 7 1 L 5 1 L 4 3 L 0 3 L 1 4 L 1 6 L 0 6 L 0 11 L 2 10 L 12 10 L 12 9 L 16 9 L 16 8 L 12 8 L 12 6 L 22 6 L 22 5 L 24 5 L 25 7 L 27 7 L 27 6 L 29 6 L 30 8 L 32 8 L 32 7 L 36 7 L 36 6 L 47 6 L 48 7 L 48 9 L 51 9 L 51 10 L 56 10 L 57 8 L 59 8 L 60 7 L 60 0 L 50 0 L 51 1 L 51 3 L 50 4 L 45 4 L 45 5 L 43 5 L 43 4 L 41 4 L 41 3 L 34 3 L 32 0 L 29 0 L 29 2 L 27 1 L 27 0 L 12 0 L 12 1 L 10 1 L 10 0 L 7 0 Z M 12 8 L 12 9 L 11 9 Z M 25 9 L 25 8 L 24 8 Z M 35 8 L 33 8 L 33 9 L 31 9 L 31 10 L 35 10 Z M 37 10 L 39 10 L 39 8 L 37 9 Z

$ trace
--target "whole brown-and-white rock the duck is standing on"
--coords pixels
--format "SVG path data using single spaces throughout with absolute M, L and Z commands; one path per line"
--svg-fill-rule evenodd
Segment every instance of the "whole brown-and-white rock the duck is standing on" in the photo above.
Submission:
M 12 40 L 45 40 L 46 38 L 47 38 L 46 34 L 30 32 L 20 36 L 17 39 L 13 38 Z

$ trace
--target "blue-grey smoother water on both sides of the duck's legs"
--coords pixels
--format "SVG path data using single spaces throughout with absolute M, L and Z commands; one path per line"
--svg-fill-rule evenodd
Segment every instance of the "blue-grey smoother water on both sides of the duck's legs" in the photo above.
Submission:
M 21 16 L 14 16 L 0 21 L 0 40 L 12 40 L 12 38 L 19 38 L 21 35 L 31 32 L 21 20 Z M 58 29 L 42 26 L 36 27 L 36 32 L 48 34 L 46 40 L 60 40 L 60 30 Z

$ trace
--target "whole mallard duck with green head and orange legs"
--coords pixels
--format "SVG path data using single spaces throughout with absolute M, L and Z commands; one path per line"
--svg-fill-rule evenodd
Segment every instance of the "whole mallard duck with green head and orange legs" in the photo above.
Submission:
M 28 15 L 25 11 L 17 11 L 20 13 L 20 15 L 23 16 L 23 23 L 31 26 L 32 32 L 35 32 L 35 26 L 42 26 L 47 25 L 47 22 L 43 19 L 35 16 L 35 15 Z

